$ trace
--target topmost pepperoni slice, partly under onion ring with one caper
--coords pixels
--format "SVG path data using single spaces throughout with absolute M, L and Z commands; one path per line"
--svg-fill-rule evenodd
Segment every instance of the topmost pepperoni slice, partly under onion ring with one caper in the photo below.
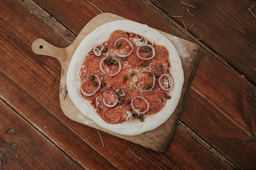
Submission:
M 114 44 L 115 44 L 115 41 L 120 38 L 120 37 L 124 37 L 124 38 L 127 38 L 128 39 L 128 35 L 126 34 L 126 32 L 122 31 L 122 30 L 116 30 L 114 32 L 112 32 L 109 36 L 109 44 L 118 49 L 118 48 L 124 48 L 126 45 L 127 45 L 127 41 L 125 40 L 120 40 L 118 43 L 121 43 L 121 47 L 115 47 Z

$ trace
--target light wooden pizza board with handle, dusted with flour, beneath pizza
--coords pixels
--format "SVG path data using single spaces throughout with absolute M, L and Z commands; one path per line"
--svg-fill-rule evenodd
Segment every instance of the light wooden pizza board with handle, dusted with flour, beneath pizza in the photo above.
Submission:
M 85 25 L 85 27 L 81 30 L 81 32 L 78 34 L 78 36 L 70 46 L 66 48 L 58 48 L 47 43 L 43 39 L 37 39 L 32 44 L 32 50 L 34 51 L 34 53 L 38 55 L 46 55 L 57 58 L 61 63 L 62 73 L 59 89 L 60 105 L 63 113 L 67 117 L 79 123 L 109 133 L 111 135 L 137 143 L 141 146 L 153 149 L 155 151 L 165 152 L 169 147 L 172 134 L 179 119 L 179 114 L 184 105 L 187 92 L 193 79 L 193 75 L 198 63 L 199 56 L 201 54 L 201 48 L 197 44 L 159 31 L 161 34 L 165 35 L 170 40 L 170 42 L 173 43 L 182 62 L 182 68 L 184 70 L 184 85 L 178 106 L 176 107 L 174 113 L 170 116 L 170 118 L 164 124 L 162 124 L 154 130 L 144 132 L 143 134 L 136 136 L 125 136 L 115 134 L 106 129 L 101 128 L 91 119 L 84 116 L 72 103 L 66 85 L 66 75 L 69 63 L 80 42 L 84 39 L 84 37 L 86 37 L 90 32 L 92 32 L 100 25 L 114 20 L 127 19 L 111 13 L 99 14 Z

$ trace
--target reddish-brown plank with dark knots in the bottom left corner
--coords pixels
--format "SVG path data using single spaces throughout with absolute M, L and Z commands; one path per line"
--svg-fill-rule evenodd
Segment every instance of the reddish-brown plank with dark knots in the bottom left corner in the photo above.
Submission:
M 83 169 L 1 99 L 0 108 L 1 169 Z

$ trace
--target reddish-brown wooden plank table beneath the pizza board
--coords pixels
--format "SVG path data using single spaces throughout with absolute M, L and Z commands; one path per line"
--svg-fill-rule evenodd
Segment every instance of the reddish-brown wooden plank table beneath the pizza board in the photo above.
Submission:
M 255 1 L 2 0 L 0 9 L 0 169 L 256 169 Z M 67 47 L 106 12 L 201 47 L 166 152 L 65 116 L 59 61 L 31 49 L 37 38 Z

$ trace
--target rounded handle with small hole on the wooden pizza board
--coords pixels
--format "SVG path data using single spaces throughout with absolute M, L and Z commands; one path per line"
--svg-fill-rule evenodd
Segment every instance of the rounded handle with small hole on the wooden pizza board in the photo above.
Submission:
M 32 43 L 32 50 L 38 55 L 50 56 L 57 58 L 58 60 L 63 56 L 63 48 L 55 47 L 41 38 L 36 39 Z

